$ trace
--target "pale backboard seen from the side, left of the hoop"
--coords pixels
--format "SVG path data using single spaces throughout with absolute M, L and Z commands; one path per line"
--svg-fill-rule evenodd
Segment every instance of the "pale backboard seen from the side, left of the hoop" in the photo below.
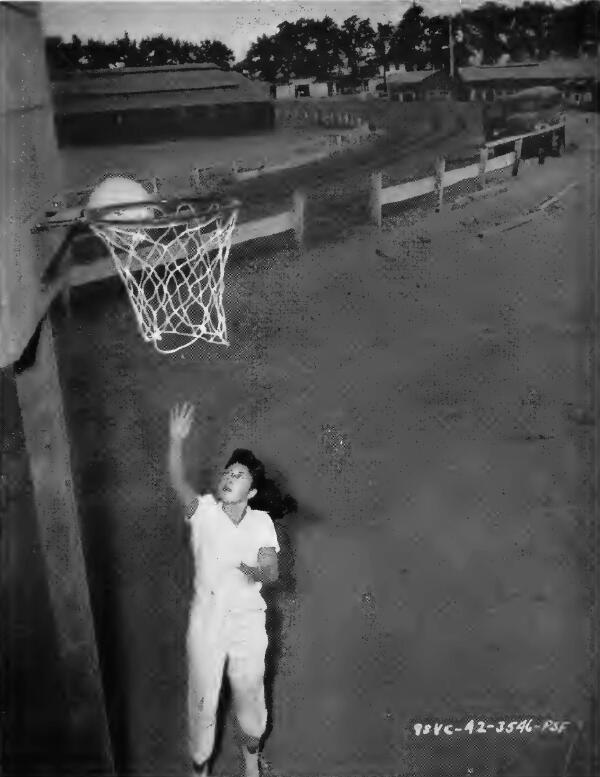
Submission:
M 39 3 L 0 4 L 0 94 L 0 367 L 6 367 L 47 308 L 40 277 L 62 237 L 32 233 L 61 189 Z

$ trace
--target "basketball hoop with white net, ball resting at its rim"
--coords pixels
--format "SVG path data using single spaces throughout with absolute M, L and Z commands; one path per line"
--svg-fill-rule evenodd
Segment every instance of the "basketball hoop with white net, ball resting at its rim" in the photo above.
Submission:
M 109 249 L 143 339 L 160 353 L 199 339 L 229 345 L 224 271 L 239 206 L 189 198 L 84 211 Z

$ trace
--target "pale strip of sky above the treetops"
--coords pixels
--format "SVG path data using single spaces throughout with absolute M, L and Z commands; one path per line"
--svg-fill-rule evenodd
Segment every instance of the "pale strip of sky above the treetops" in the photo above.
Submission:
M 521 0 L 504 0 L 503 4 L 516 6 Z M 69 0 L 42 2 L 42 14 L 46 35 L 60 35 L 66 40 L 77 35 L 83 41 L 109 41 L 125 31 L 136 40 L 160 33 L 194 43 L 209 38 L 229 46 L 237 61 L 259 35 L 276 33 L 277 25 L 285 20 L 329 15 L 340 23 L 357 14 L 376 26 L 377 22 L 400 21 L 410 5 L 411 0 Z M 420 5 L 433 16 L 475 8 L 481 0 L 420 0 Z

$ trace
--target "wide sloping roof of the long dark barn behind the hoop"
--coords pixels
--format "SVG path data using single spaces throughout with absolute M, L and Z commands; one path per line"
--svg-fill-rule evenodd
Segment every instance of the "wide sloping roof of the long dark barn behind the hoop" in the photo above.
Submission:
M 77 73 L 52 84 L 60 113 L 95 113 L 223 103 L 264 102 L 267 88 L 215 65 L 122 68 Z

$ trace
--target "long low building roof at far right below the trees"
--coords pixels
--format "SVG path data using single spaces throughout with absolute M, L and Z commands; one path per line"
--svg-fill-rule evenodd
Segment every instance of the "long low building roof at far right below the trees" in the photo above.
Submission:
M 599 63 L 595 58 L 548 59 L 512 65 L 471 65 L 458 68 L 458 71 L 462 80 L 469 83 L 600 78 Z

